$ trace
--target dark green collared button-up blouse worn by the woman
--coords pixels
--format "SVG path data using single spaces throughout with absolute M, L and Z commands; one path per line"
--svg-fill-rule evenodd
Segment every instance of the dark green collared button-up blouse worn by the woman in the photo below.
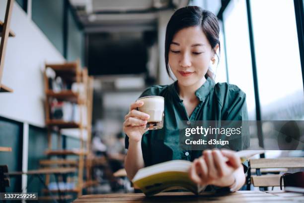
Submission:
M 142 152 L 145 166 L 183 159 L 193 161 L 202 155 L 202 151 L 183 151 L 179 148 L 179 121 L 181 120 L 248 120 L 246 95 L 237 86 L 217 83 L 207 78 L 206 82 L 195 92 L 199 104 L 189 117 L 183 101 L 177 92 L 177 81 L 171 85 L 154 85 L 146 89 L 141 97 L 164 97 L 164 124 L 162 129 L 149 130 L 142 138 Z M 126 148 L 129 138 L 126 136 Z M 249 139 L 242 140 L 240 149 L 249 146 Z M 186 153 L 188 152 L 188 153 Z M 187 156 L 186 156 L 187 154 Z M 244 170 L 247 170 L 247 164 Z

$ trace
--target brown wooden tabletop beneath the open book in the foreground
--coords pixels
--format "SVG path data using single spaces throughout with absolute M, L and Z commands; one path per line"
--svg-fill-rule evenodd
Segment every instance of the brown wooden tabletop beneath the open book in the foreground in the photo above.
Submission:
M 303 203 L 304 195 L 300 193 L 262 191 L 237 191 L 226 195 L 203 193 L 195 196 L 188 192 L 159 193 L 152 197 L 146 197 L 143 193 L 133 194 L 107 194 L 107 195 L 83 195 L 74 203 L 171 203 L 171 202 L 195 202 L 195 203 Z

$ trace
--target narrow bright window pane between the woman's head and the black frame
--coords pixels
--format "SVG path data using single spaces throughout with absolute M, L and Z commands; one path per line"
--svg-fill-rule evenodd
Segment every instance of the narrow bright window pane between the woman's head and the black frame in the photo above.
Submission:
M 249 120 L 256 120 L 246 1 L 231 0 L 223 20 L 228 80 L 246 93 Z

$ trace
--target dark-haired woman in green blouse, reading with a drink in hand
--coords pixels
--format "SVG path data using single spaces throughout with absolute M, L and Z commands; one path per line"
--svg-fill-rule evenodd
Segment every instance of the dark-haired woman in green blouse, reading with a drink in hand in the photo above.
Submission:
M 179 148 L 179 120 L 248 119 L 245 94 L 235 85 L 215 84 L 209 70 L 220 49 L 219 32 L 217 17 L 200 7 L 186 6 L 171 16 L 166 29 L 165 63 L 168 75 L 171 77 L 171 71 L 177 81 L 152 86 L 140 96 L 165 98 L 162 129 L 145 130 L 149 115 L 136 110 L 143 102 L 132 103 L 125 116 L 125 169 L 130 180 L 143 167 L 184 159 L 193 161 L 189 176 L 195 183 L 231 191 L 244 184 L 247 167 L 234 151 Z M 227 158 L 228 162 L 224 161 Z

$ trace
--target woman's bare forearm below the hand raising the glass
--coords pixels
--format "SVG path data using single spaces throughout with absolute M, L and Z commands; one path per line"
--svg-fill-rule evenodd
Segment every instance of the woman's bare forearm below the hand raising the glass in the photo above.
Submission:
M 125 158 L 125 169 L 129 180 L 132 180 L 138 170 L 145 167 L 141 141 L 129 139 L 129 149 Z

